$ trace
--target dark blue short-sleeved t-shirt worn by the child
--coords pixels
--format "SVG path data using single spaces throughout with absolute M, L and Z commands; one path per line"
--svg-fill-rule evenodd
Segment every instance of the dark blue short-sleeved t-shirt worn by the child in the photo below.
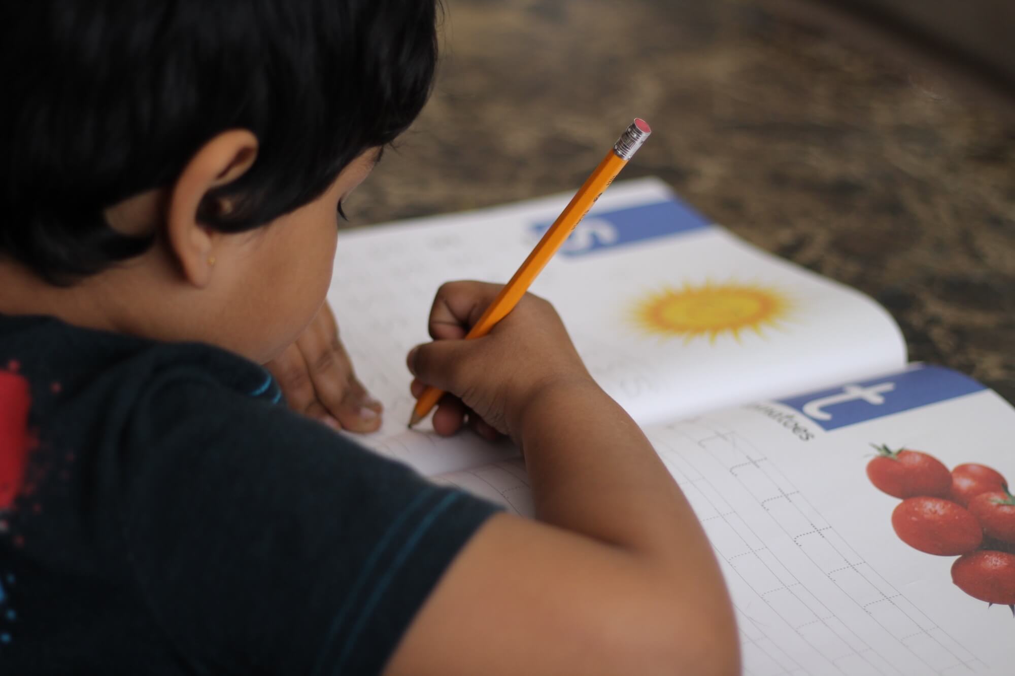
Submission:
M 370 674 L 495 510 L 260 366 L 0 316 L 0 673 Z

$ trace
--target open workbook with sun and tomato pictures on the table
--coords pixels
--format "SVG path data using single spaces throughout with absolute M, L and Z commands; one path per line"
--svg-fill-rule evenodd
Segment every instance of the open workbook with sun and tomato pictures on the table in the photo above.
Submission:
M 428 339 L 442 282 L 505 281 L 568 198 L 344 233 L 329 296 L 386 405 L 384 427 L 357 438 L 523 516 L 516 449 L 406 429 L 405 354 Z M 655 180 L 613 186 L 532 290 L 703 524 L 745 673 L 1015 673 L 1015 505 L 1000 483 L 1015 478 L 1015 410 L 1001 397 L 906 365 L 875 302 L 751 247 Z

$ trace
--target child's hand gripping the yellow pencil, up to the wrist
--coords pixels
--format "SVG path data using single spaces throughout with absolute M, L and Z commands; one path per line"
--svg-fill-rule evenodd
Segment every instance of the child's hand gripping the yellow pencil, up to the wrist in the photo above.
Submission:
M 430 309 L 432 343 L 414 347 L 408 366 L 412 394 L 426 386 L 449 393 L 433 414 L 433 429 L 453 434 L 464 423 L 482 436 L 518 431 L 526 407 L 551 388 L 593 385 L 560 318 L 542 298 L 526 294 L 483 338 L 462 340 L 499 292 L 499 284 L 444 284 Z

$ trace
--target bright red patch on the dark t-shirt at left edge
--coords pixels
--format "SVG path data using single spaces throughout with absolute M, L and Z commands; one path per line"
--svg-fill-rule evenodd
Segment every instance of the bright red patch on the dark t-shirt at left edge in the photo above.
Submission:
M 31 395 L 28 381 L 0 370 L 0 510 L 9 510 L 21 490 L 28 451 L 35 446 L 28 433 Z

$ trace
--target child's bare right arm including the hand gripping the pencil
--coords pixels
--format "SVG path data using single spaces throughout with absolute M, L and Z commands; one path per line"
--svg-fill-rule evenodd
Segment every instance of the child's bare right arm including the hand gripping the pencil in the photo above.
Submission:
M 489 336 L 458 340 L 497 288 L 446 285 L 430 329 L 448 340 L 414 350 L 410 368 L 521 446 L 541 523 L 501 515 L 482 527 L 387 673 L 737 673 L 732 608 L 700 526 L 550 306 L 529 296 Z M 451 430 L 463 413 L 450 402 L 434 425 Z

